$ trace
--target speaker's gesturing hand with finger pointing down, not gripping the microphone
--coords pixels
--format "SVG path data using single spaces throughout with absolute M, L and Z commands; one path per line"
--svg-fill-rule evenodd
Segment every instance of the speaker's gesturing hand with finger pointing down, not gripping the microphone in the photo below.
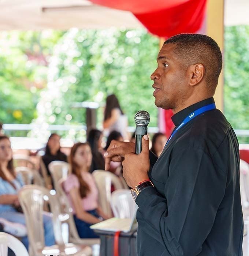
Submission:
M 111 161 L 122 162 L 125 155 L 129 153 L 135 153 L 135 143 L 112 140 L 110 146 L 104 154 L 105 170 L 109 170 Z

